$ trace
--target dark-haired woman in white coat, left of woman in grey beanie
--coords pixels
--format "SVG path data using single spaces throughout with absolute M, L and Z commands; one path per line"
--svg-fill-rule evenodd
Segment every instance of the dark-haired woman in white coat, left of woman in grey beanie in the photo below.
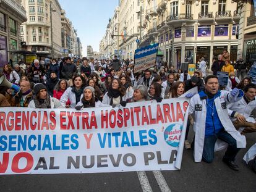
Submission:
M 85 79 L 82 75 L 75 75 L 72 78 L 73 85 L 64 92 L 61 96 L 61 105 L 65 106 L 66 108 L 75 108 L 77 103 L 83 98 L 83 89 L 87 85 Z M 70 101 L 70 106 L 66 105 L 67 101 Z

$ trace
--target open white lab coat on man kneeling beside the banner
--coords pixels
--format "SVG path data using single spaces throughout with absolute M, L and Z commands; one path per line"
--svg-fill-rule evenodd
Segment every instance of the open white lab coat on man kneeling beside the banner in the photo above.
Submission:
M 224 107 L 225 104 L 229 104 L 230 102 L 236 102 L 241 98 L 233 98 L 228 91 L 221 91 L 220 97 L 215 99 L 215 106 L 218 113 L 218 117 L 224 127 L 224 129 L 236 140 L 237 148 L 245 148 L 246 140 L 245 136 L 241 135 L 239 131 L 234 128 L 233 123 L 229 119 L 228 116 L 228 109 Z M 225 103 L 225 104 L 223 104 Z M 195 105 L 201 105 L 202 110 L 197 111 Z M 223 107 L 221 107 L 223 104 Z M 200 107 L 199 107 L 200 110 Z M 195 94 L 190 99 L 189 105 L 189 114 L 195 114 L 194 126 L 193 129 L 195 131 L 195 149 L 194 149 L 194 159 L 195 162 L 202 161 L 203 155 L 203 143 L 205 140 L 205 122 L 206 122 L 206 115 L 207 115 L 207 103 L 206 99 L 201 99 L 199 94 Z M 220 143 L 220 140 L 215 143 L 215 151 L 224 149 L 224 143 Z

